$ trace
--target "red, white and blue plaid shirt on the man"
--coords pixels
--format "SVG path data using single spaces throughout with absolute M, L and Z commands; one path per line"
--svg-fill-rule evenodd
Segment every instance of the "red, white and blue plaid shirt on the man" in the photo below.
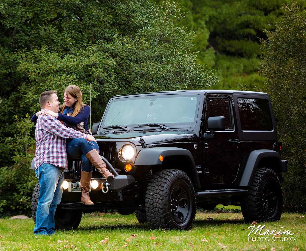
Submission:
M 87 135 L 65 127 L 53 116 L 39 115 L 35 138 L 35 169 L 43 163 L 67 168 L 66 138 L 86 138 Z

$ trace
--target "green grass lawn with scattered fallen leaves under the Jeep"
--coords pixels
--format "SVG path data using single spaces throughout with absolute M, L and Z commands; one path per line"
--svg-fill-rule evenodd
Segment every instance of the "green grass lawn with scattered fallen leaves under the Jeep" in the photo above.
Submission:
M 135 215 L 94 213 L 83 215 L 78 229 L 57 231 L 52 236 L 35 236 L 32 220 L 0 219 L 0 250 L 306 250 L 304 215 L 283 213 L 278 222 L 260 224 L 265 225 L 262 232 L 285 227 L 295 240 L 273 242 L 272 235 L 259 235 L 270 237 L 270 241 L 248 242 L 250 224 L 236 212 L 198 212 L 189 231 L 150 230 L 147 224 L 139 224 Z M 105 238 L 108 241 L 101 243 Z

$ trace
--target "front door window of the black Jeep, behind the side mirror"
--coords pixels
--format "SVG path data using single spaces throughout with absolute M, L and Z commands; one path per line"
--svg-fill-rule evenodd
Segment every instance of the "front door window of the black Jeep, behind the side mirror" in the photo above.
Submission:
M 233 130 L 233 114 L 228 98 L 208 98 L 206 106 L 206 128 L 209 117 L 224 116 L 225 130 Z

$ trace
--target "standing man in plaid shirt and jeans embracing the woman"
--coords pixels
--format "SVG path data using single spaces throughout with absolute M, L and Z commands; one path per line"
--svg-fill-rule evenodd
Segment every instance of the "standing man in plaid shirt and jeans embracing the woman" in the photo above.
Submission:
M 42 109 L 59 112 L 57 91 L 45 91 L 40 94 Z M 95 141 L 92 135 L 86 135 L 65 127 L 54 116 L 39 115 L 36 129 L 35 174 L 39 179 L 40 192 L 36 212 L 34 234 L 54 234 L 54 214 L 61 202 L 64 182 L 64 169 L 67 168 L 66 138 L 87 138 Z

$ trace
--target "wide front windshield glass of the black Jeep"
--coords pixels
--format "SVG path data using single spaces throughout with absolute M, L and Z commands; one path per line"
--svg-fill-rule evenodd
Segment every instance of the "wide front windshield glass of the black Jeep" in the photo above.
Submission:
M 200 102 L 198 94 L 163 94 L 114 98 L 107 106 L 102 127 L 195 125 Z

